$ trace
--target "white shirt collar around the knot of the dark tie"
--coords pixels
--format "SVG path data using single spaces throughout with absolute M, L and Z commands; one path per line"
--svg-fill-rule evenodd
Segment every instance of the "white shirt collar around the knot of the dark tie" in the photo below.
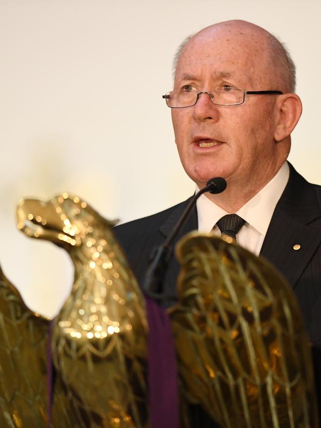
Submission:
M 264 236 L 288 181 L 289 173 L 288 164 L 284 162 L 272 180 L 236 213 Z M 198 187 L 196 190 L 199 191 Z M 209 232 L 223 215 L 229 214 L 210 201 L 204 194 L 197 200 L 196 206 L 200 232 Z

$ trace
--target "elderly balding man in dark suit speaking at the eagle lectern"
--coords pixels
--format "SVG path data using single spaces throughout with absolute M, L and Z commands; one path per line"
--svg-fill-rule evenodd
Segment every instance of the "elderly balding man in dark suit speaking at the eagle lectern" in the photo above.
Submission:
M 321 360 L 321 187 L 286 162 L 302 110 L 293 62 L 274 36 L 244 21 L 201 30 L 176 60 L 174 89 L 164 98 L 182 165 L 198 189 L 212 177 L 227 181 L 223 193 L 201 196 L 179 237 L 224 230 L 268 258 L 293 287 Z M 115 229 L 139 282 L 188 202 Z M 173 257 L 165 294 L 175 293 L 178 270 Z

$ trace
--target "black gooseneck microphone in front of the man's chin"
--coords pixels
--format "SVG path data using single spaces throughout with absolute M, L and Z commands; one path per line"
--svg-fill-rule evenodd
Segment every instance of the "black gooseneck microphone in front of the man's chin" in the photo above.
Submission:
M 173 231 L 167 237 L 165 242 L 152 252 L 152 255 L 150 258 L 151 261 L 147 268 L 144 284 L 143 284 L 143 292 L 147 296 L 151 297 L 152 299 L 158 299 L 158 300 L 176 298 L 176 296 L 161 295 L 162 283 L 163 283 L 163 279 L 169 263 L 169 258 L 171 255 L 170 246 L 174 238 L 177 236 L 178 232 L 180 231 L 186 218 L 191 213 L 192 208 L 195 206 L 196 201 L 199 199 L 199 197 L 205 192 L 209 192 L 212 194 L 221 193 L 226 189 L 226 186 L 227 186 L 226 180 L 222 177 L 215 177 L 208 180 L 206 183 L 206 186 L 203 189 L 201 189 L 192 198 L 192 200 L 186 207 L 184 213 L 178 220 Z

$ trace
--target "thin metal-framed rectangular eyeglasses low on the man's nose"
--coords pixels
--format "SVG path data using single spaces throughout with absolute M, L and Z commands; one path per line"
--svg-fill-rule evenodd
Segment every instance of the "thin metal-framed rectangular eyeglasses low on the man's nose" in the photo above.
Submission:
M 218 87 L 213 92 L 205 92 L 194 87 L 191 89 L 174 89 L 162 97 L 170 108 L 184 108 L 194 106 L 202 93 L 209 95 L 213 104 L 231 106 L 243 104 L 245 95 L 281 95 L 281 90 L 244 90 L 240 87 Z

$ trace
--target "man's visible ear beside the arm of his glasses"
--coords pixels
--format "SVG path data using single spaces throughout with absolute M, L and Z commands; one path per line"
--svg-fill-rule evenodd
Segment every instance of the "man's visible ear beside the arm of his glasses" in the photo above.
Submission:
M 295 93 L 279 95 L 277 101 L 278 121 L 274 131 L 274 139 L 281 141 L 293 131 L 302 113 L 302 103 Z

